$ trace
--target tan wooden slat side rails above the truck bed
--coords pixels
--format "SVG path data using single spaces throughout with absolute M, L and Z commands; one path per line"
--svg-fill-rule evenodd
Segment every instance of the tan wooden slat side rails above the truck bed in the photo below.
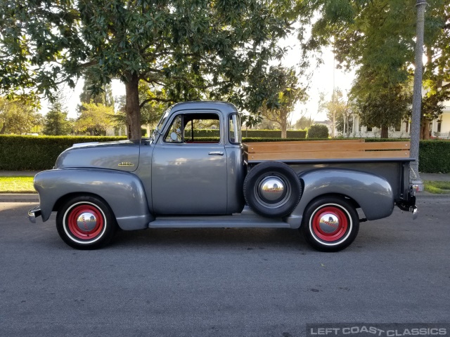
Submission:
M 406 159 L 410 143 L 364 139 L 244 143 L 245 161 L 308 159 Z

